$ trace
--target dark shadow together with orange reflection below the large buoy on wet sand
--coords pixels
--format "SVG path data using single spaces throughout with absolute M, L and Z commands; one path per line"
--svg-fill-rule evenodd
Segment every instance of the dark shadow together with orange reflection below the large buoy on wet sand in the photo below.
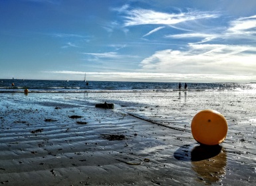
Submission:
M 174 157 L 181 161 L 191 161 L 192 169 L 197 173 L 195 178 L 206 184 L 221 181 L 225 175 L 227 157 L 225 150 L 220 146 L 183 145 Z

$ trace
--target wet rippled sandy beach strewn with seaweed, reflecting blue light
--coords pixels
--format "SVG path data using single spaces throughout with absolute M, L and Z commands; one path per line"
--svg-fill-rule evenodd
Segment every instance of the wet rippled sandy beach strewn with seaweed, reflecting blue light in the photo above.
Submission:
M 255 92 L 0 94 L 3 185 L 255 185 Z M 95 108 L 113 103 L 114 110 Z M 193 116 L 225 116 L 201 147 Z

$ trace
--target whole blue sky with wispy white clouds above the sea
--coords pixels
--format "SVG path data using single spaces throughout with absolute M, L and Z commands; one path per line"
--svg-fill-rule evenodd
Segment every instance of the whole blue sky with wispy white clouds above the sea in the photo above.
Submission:
M 0 0 L 0 79 L 256 82 L 255 0 Z

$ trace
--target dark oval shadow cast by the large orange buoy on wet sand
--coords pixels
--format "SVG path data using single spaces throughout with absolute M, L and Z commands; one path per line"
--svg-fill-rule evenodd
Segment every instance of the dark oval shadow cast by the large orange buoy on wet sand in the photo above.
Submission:
M 183 145 L 175 151 L 174 157 L 181 161 L 201 161 L 215 157 L 221 152 L 221 145 L 199 145 L 192 143 Z

